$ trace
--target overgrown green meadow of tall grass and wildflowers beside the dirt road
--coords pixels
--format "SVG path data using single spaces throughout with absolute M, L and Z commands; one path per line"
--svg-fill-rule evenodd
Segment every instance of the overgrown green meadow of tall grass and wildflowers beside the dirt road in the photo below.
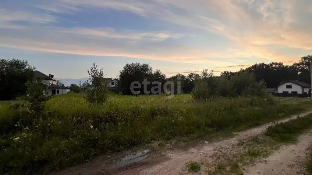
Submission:
M 105 104 L 90 105 L 84 95 L 53 97 L 40 115 L 29 111 L 27 102 L 18 109 L 0 104 L 0 173 L 48 173 L 154 140 L 244 130 L 311 104 L 271 95 L 193 102 L 190 94 L 172 99 L 110 94 Z

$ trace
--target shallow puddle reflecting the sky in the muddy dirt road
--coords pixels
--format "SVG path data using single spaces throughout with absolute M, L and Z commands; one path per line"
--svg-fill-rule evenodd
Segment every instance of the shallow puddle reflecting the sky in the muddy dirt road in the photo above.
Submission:
M 123 167 L 125 165 L 130 164 L 130 163 L 136 163 L 136 162 L 139 162 L 141 160 L 144 160 L 145 158 L 148 158 L 148 156 L 149 156 L 147 154 L 148 152 L 149 152 L 148 149 L 143 149 L 143 150 L 139 150 L 137 152 L 134 152 L 132 154 L 128 154 L 116 163 L 115 168 Z

